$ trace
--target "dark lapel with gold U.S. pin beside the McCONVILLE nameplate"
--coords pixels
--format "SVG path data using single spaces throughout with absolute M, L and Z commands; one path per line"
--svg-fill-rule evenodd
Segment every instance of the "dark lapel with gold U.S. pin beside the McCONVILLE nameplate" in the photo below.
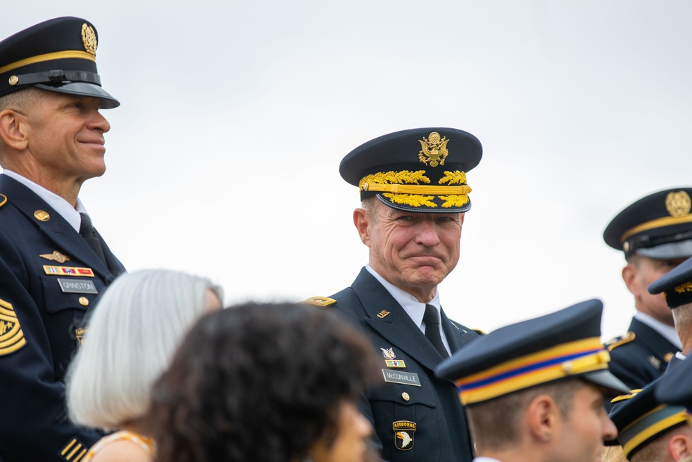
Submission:
M 367 313 L 365 322 L 393 346 L 434 371 L 442 357 L 383 285 L 363 268 L 351 287 Z

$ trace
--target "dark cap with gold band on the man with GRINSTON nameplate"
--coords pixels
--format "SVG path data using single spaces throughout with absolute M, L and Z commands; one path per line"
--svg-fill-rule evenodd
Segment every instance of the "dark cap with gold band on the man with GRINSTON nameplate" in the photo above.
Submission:
M 98 34 L 76 17 L 44 21 L 0 42 L 0 96 L 34 86 L 98 98 L 103 109 L 120 103 L 101 88 L 96 70 Z

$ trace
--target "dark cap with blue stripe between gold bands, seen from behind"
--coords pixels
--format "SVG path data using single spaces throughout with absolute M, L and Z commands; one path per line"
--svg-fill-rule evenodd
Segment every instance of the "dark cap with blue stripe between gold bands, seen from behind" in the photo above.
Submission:
M 499 328 L 457 350 L 435 374 L 455 382 L 462 405 L 569 377 L 626 393 L 628 388 L 608 371 L 602 312 L 600 300 L 588 300 Z

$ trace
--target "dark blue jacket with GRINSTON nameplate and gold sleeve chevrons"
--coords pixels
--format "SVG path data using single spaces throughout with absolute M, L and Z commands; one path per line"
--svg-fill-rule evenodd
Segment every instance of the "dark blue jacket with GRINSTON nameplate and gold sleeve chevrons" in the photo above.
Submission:
M 78 461 L 100 434 L 67 420 L 64 375 L 98 294 L 70 284 L 91 282 L 100 294 L 124 268 L 104 246 L 111 271 L 62 216 L 6 175 L 0 203 L 0 459 Z M 54 252 L 57 261 L 46 258 Z M 78 292 L 63 292 L 58 279 Z

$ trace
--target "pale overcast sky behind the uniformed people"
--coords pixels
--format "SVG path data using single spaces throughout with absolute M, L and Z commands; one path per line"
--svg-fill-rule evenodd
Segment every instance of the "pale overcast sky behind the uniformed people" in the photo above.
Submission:
M 69 5 L 69 6 L 68 6 Z M 130 271 L 181 269 L 226 303 L 302 300 L 367 261 L 340 160 L 376 136 L 457 127 L 468 173 L 453 319 L 493 330 L 598 297 L 634 312 L 622 208 L 689 186 L 688 1 L 4 2 L 0 35 L 51 17 L 98 29 L 108 171 L 80 197 Z M 451 148 L 451 146 L 450 146 Z

